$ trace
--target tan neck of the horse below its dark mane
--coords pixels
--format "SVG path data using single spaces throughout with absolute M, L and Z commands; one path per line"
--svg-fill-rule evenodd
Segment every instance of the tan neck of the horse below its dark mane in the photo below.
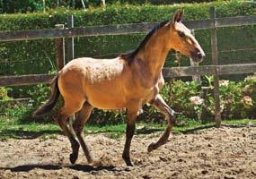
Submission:
M 155 34 L 149 39 L 144 49 L 138 53 L 138 60 L 141 60 L 148 72 L 148 78 L 158 79 L 162 72 L 165 58 L 168 55 L 167 33 Z

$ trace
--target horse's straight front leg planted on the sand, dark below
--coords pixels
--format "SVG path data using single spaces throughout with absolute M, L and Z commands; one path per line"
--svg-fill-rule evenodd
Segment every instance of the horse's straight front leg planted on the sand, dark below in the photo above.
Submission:
M 130 151 L 130 143 L 135 132 L 135 127 L 136 127 L 135 122 L 137 118 L 138 108 L 139 108 L 138 106 L 128 107 L 126 142 L 125 142 L 125 147 L 122 155 L 122 158 L 125 160 L 127 166 L 132 166 L 132 163 L 129 157 L 129 151 Z

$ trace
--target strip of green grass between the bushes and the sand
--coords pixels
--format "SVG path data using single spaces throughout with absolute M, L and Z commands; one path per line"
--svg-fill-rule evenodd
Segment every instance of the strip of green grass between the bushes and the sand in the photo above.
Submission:
M 222 124 L 228 125 L 248 125 L 256 124 L 256 119 L 240 119 L 240 120 L 224 120 Z M 196 131 L 199 129 L 206 129 L 213 127 L 214 123 L 201 124 L 197 120 L 187 120 L 184 124 L 173 126 L 172 132 L 174 133 L 187 133 Z M 138 123 L 137 124 L 137 134 L 148 134 L 154 132 L 163 131 L 166 124 L 153 124 L 153 123 Z M 84 127 L 85 133 L 107 133 L 112 139 L 119 139 L 126 130 L 126 124 L 116 124 L 116 125 L 104 125 L 95 126 L 87 125 Z M 55 139 L 57 134 L 61 134 L 61 130 L 57 124 L 18 124 L 17 122 L 3 122 L 0 121 L 0 140 L 6 140 L 9 138 L 14 139 L 34 139 L 41 137 L 42 140 Z

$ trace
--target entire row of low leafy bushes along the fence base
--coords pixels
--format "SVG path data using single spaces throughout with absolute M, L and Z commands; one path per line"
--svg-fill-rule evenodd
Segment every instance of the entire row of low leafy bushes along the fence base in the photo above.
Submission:
M 201 90 L 199 84 L 193 81 L 172 81 L 166 83 L 161 91 L 161 94 L 167 104 L 176 112 L 181 113 L 179 120 L 198 117 L 201 113 L 203 105 L 207 106 L 207 118 L 211 119 L 214 115 L 214 99 L 211 78 L 209 78 L 207 98 L 201 98 Z M 255 118 L 256 117 L 256 76 L 249 76 L 244 81 L 220 81 L 220 101 L 221 115 L 225 119 L 234 118 Z M 31 98 L 28 105 L 9 107 L 4 112 L 4 116 L 8 119 L 17 119 L 21 123 L 31 122 L 31 113 L 49 97 L 49 87 L 38 85 L 30 92 Z M 53 116 L 63 103 L 60 99 L 57 107 L 51 113 L 40 119 L 37 122 L 52 122 Z M 0 105 L 1 107 L 1 105 Z M 145 106 L 144 113 L 138 116 L 137 121 L 163 123 L 163 115 L 154 107 Z M 105 124 L 123 124 L 126 120 L 125 111 L 108 111 L 94 109 L 89 124 L 105 125 Z M 180 124 L 183 123 L 180 121 Z

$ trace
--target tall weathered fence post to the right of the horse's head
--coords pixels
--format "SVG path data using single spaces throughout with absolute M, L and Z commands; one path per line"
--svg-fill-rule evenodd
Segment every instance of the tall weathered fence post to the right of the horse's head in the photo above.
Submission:
M 216 38 L 216 9 L 210 7 L 210 18 L 213 20 L 211 23 L 211 48 L 212 48 L 212 64 L 218 65 L 217 59 L 217 38 Z M 221 125 L 221 110 L 220 110 L 220 98 L 219 98 L 219 76 L 216 69 L 216 75 L 214 75 L 214 99 L 215 99 L 215 121 L 216 127 Z

